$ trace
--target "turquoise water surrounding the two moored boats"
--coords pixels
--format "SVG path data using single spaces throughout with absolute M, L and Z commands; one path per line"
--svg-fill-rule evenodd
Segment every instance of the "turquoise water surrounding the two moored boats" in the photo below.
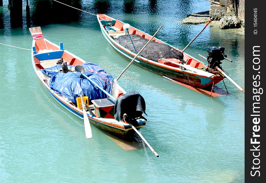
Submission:
M 106 13 L 149 34 L 163 25 L 157 38 L 180 49 L 204 27 L 183 25 L 182 18 L 209 8 L 205 0 L 155 1 L 156 5 L 107 1 L 102 12 L 101 2 L 84 1 L 81 8 Z M 25 20 L 23 27 L 11 29 L 5 3 L 0 43 L 30 49 Z M 96 17 L 86 13 L 77 17 L 64 24 L 58 18 L 41 25 L 42 33 L 117 77 L 128 61 L 105 40 Z M 198 54 L 207 56 L 208 46 L 224 46 L 233 63 L 224 60 L 222 66 L 231 69 L 245 65 L 244 44 L 244 36 L 208 26 L 186 52 L 199 59 Z M 85 138 L 83 120 L 42 86 L 29 50 L 0 45 L 0 54 L 0 182 L 154 182 L 144 149 L 125 151 L 94 126 L 93 138 Z M 226 71 L 245 89 L 244 68 Z M 148 121 L 142 135 L 160 155 L 157 158 L 147 149 L 157 182 L 244 182 L 245 95 L 234 84 L 226 82 L 229 95 L 211 98 L 135 65 L 119 84 L 126 91 L 139 91 L 146 101 Z M 222 82 L 217 86 L 224 89 Z

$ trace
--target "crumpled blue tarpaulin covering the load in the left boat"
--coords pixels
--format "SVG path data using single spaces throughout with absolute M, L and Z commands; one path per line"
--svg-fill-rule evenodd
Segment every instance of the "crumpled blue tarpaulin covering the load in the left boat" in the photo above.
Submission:
M 85 73 L 92 81 L 98 84 L 108 93 L 112 92 L 113 77 L 105 72 L 105 70 L 95 63 L 84 63 L 82 66 Z M 68 67 L 73 67 L 68 65 Z M 98 89 L 89 80 L 80 77 L 80 72 L 60 73 L 61 65 L 56 65 L 48 69 L 40 69 L 43 74 L 51 77 L 50 87 L 55 91 L 65 95 L 70 101 L 76 103 L 76 97 L 86 95 L 89 100 L 104 99 L 106 94 Z

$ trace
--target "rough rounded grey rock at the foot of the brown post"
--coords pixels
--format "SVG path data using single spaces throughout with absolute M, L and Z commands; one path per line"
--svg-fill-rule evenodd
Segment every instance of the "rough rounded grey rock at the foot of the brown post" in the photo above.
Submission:
M 220 29 L 231 29 L 239 27 L 240 27 L 240 20 L 236 16 L 223 16 L 220 19 L 219 23 Z

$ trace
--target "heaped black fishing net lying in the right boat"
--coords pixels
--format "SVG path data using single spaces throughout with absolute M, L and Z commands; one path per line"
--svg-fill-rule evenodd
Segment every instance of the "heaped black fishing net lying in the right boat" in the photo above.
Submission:
M 131 34 L 130 36 L 138 52 L 149 41 L 148 39 L 142 38 L 138 34 Z M 128 35 L 121 35 L 118 38 L 115 38 L 115 41 L 129 49 L 131 52 L 136 52 Z M 150 41 L 147 47 L 141 52 L 140 56 L 155 62 L 158 62 L 158 59 L 162 58 L 175 58 L 179 59 L 181 62 L 184 62 L 183 52 L 175 50 L 166 44 L 154 41 Z

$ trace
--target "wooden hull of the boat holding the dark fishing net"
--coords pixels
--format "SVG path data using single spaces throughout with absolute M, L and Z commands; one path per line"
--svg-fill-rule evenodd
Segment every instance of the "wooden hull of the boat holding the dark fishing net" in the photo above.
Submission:
M 113 19 L 105 14 L 98 14 L 97 19 L 100 24 L 102 34 L 110 45 L 121 56 L 131 61 L 137 55 L 137 52 L 130 51 L 115 40 L 121 35 L 126 35 L 127 32 L 123 28 L 125 23 L 120 20 Z M 135 27 L 130 27 L 129 34 L 131 36 L 137 34 L 147 40 L 152 38 L 151 35 Z M 157 38 L 153 38 L 152 41 L 166 44 L 174 50 L 178 50 L 177 48 Z M 185 63 L 181 63 L 180 59 L 176 58 L 161 58 L 154 61 L 144 58 L 143 56 L 138 56 L 135 59 L 134 64 L 206 95 L 212 94 L 213 86 L 224 79 L 224 75 L 219 72 L 211 73 L 206 69 L 208 68 L 207 64 L 195 59 L 187 53 L 183 53 L 183 60 L 185 60 Z

